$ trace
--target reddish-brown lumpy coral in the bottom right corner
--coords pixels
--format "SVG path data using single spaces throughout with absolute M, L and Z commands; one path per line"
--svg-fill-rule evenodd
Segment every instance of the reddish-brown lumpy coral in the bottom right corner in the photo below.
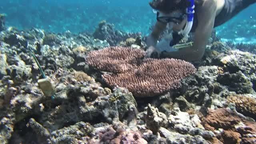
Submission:
M 236 112 L 221 108 L 210 110 L 202 124 L 212 130 L 224 144 L 254 144 L 256 142 L 256 122 L 241 118 Z

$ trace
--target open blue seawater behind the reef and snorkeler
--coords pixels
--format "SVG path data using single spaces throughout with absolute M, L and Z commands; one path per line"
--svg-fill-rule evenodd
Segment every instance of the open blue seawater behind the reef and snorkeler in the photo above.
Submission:
M 6 25 L 48 32 L 93 32 L 106 20 L 125 32 L 148 34 L 156 22 L 150 0 L 1 0 Z M 224 41 L 256 43 L 256 4 L 216 28 Z

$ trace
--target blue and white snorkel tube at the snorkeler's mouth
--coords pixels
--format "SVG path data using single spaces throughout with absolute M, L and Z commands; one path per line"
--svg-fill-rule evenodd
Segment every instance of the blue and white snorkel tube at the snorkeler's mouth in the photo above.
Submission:
M 181 32 L 174 32 L 172 34 L 172 41 L 170 42 L 170 46 L 174 46 L 176 44 L 178 44 L 178 42 L 184 38 L 184 36 L 186 36 L 190 30 L 192 29 L 193 26 L 193 19 L 194 19 L 194 0 L 188 0 L 188 2 L 190 2 L 190 5 L 188 6 L 188 8 L 186 8 L 186 14 L 187 14 L 187 23 L 186 26 L 184 28 L 184 30 L 182 30 Z

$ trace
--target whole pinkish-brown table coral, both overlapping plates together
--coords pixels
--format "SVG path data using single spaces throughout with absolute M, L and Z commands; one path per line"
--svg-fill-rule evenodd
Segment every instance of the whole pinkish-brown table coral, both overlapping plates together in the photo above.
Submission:
M 156 96 L 178 88 L 180 80 L 196 71 L 189 62 L 176 59 L 147 58 L 144 51 L 129 47 L 109 47 L 90 52 L 87 63 L 102 71 L 106 83 L 130 90 L 134 96 Z

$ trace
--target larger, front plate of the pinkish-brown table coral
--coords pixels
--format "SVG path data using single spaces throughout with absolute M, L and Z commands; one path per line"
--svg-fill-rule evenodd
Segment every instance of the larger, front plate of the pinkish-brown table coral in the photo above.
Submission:
M 112 87 L 126 87 L 134 96 L 156 96 L 179 87 L 180 79 L 195 72 L 189 62 L 175 59 L 146 59 L 138 68 L 121 74 L 104 74 Z

